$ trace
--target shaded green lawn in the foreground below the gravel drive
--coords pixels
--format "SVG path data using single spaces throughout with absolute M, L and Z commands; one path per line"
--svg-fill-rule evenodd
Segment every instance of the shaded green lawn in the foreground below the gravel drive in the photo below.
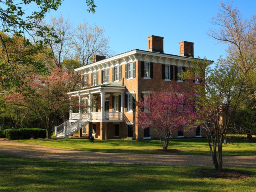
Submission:
M 69 192 L 255 192 L 248 178 L 204 178 L 194 166 L 84 164 L 14 158 L 0 154 L 0 191 Z M 209 167 L 204 167 L 209 168 Z

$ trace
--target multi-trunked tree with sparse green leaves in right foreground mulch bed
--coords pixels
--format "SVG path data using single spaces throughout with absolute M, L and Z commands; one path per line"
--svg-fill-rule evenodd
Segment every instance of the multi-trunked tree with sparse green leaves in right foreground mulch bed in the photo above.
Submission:
M 192 84 L 196 90 L 198 124 L 206 130 L 214 167 L 222 171 L 222 144 L 236 109 L 252 93 L 252 78 L 241 72 L 236 63 L 228 58 L 220 58 L 214 68 L 208 66 L 206 59 L 193 60 L 193 71 L 184 73 L 186 79 L 200 82 Z M 206 75 L 204 75 L 206 74 Z M 248 73 L 249 74 L 249 73 Z M 206 122 L 209 121 L 210 125 Z

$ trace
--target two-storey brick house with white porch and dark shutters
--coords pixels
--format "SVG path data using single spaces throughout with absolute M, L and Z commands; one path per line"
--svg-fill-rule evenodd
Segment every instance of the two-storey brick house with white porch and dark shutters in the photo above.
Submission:
M 79 107 L 78 113 L 70 107 L 70 120 L 56 126 L 56 136 L 68 137 L 79 131 L 79 136 L 87 134 L 102 140 L 158 138 L 150 127 L 142 129 L 134 124 L 138 110 L 135 102 L 165 84 L 185 89 L 177 74 L 191 66 L 194 56 L 192 42 L 180 42 L 179 56 L 164 53 L 163 44 L 163 37 L 148 36 L 148 51 L 135 49 L 110 58 L 94 56 L 92 64 L 75 69 L 82 75 L 81 89 L 68 95 L 90 107 L 84 111 Z M 176 131 L 172 136 L 200 137 L 201 130 Z

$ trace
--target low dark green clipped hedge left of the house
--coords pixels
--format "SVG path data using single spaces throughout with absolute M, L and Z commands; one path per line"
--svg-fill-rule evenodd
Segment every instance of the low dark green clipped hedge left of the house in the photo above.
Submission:
M 8 139 L 46 138 L 46 130 L 40 128 L 6 129 L 4 135 Z

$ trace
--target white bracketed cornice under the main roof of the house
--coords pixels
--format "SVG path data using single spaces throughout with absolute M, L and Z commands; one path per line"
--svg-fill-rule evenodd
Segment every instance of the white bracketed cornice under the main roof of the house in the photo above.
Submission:
M 192 58 L 136 49 L 110 58 L 100 60 L 92 64 L 88 64 L 86 66 L 82 66 L 80 68 L 76 68 L 75 71 L 80 72 L 81 74 L 89 74 L 99 70 L 108 69 L 114 66 L 120 66 L 130 62 L 135 62 L 137 60 L 144 62 L 154 62 L 160 64 L 190 67 Z M 208 63 L 212 64 L 213 61 L 208 61 Z

